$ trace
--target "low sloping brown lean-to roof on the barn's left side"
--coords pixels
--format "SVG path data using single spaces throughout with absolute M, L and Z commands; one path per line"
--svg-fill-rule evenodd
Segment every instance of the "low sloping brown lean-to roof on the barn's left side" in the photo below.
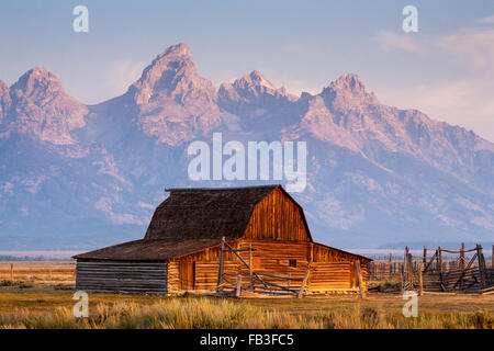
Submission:
M 87 260 L 166 261 L 220 244 L 221 239 L 141 239 L 77 254 L 74 258 Z

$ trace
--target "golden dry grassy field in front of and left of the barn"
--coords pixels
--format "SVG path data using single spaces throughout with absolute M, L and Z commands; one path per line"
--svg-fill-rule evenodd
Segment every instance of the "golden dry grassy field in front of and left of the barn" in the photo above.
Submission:
M 1 262 L 3 263 L 3 262 Z M 14 263 L 15 264 L 15 263 Z M 428 295 L 405 318 L 398 293 L 324 298 L 234 299 L 89 294 L 89 318 L 75 318 L 74 264 L 0 264 L 0 328 L 487 328 L 494 296 Z

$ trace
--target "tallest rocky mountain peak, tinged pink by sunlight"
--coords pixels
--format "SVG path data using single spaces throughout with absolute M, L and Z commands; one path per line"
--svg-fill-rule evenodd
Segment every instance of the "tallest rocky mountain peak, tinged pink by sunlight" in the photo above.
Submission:
M 136 107 L 138 127 L 159 143 L 178 145 L 221 123 L 216 89 L 199 76 L 186 44 L 159 54 L 125 95 Z

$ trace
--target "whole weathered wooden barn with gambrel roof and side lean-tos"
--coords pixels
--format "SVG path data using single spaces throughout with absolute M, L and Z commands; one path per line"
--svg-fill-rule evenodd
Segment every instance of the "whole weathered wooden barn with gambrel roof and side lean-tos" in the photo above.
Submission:
M 171 189 L 144 239 L 75 256 L 77 290 L 364 292 L 370 259 L 314 242 L 281 185 Z

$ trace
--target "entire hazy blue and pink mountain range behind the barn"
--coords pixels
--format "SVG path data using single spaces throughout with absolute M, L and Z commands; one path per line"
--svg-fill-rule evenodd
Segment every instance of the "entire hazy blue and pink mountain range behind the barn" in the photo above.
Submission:
M 193 140 L 303 140 L 293 196 L 332 246 L 494 239 L 494 144 L 417 110 L 382 104 L 353 73 L 318 94 L 257 70 L 216 89 L 189 47 L 168 47 L 120 97 L 86 105 L 33 68 L 0 81 L 0 249 L 90 249 L 142 238 L 165 188 L 191 181 Z M 276 181 L 271 181 L 273 183 Z

